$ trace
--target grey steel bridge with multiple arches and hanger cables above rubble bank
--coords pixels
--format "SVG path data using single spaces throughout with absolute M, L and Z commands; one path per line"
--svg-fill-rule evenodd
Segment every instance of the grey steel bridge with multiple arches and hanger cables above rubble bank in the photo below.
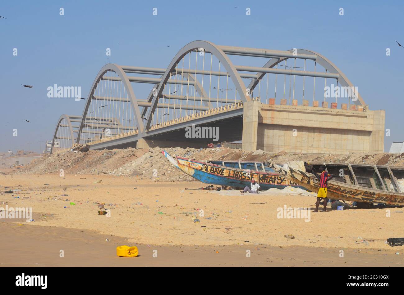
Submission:
M 147 84 L 151 84 L 149 94 L 139 99 L 135 93 Z M 82 115 L 59 118 L 53 135 L 53 143 L 59 140 L 59 145 L 52 144 L 52 152 L 69 149 L 73 143 L 102 149 L 129 146 L 142 138 L 175 142 L 185 127 L 215 122 L 221 122 L 226 131 L 221 139 L 239 140 L 241 133 L 231 126 L 240 123 L 246 102 L 268 104 L 272 98 L 272 103 L 286 104 L 288 98 L 289 104 L 306 101 L 307 105 L 308 100 L 314 104 L 326 101 L 324 87 L 333 84 L 352 89 L 343 101 L 348 106 L 365 104 L 349 79 L 317 52 L 193 41 L 179 50 L 167 68 L 105 64 L 90 88 Z M 182 133 L 184 141 L 183 137 Z

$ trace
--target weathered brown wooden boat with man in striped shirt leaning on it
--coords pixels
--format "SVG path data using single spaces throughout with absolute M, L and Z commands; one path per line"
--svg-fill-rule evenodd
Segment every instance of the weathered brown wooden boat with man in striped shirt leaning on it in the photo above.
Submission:
M 327 195 L 330 199 L 354 202 L 379 203 L 404 206 L 404 167 L 385 165 L 316 163 L 333 176 L 328 181 Z M 320 186 L 316 176 L 306 172 L 303 161 L 288 162 L 283 167 L 269 162 L 269 166 L 280 175 L 306 189 L 318 192 Z

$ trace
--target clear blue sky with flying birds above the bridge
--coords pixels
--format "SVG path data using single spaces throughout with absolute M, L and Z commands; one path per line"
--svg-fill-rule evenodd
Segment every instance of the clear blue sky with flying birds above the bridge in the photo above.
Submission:
M 320 52 L 358 86 L 371 110 L 386 110 L 388 151 L 392 141 L 404 140 L 404 48 L 394 42 L 404 45 L 403 8 L 403 1 L 2 1 L 0 151 L 38 151 L 61 114 L 81 115 L 84 101 L 50 99 L 47 87 L 77 85 L 87 97 L 105 48 L 112 50 L 107 62 L 164 68 L 197 39 Z

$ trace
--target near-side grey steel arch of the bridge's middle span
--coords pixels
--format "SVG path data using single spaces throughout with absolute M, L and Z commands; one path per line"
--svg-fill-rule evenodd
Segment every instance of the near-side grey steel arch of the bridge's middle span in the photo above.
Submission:
M 132 85 L 130 85 L 128 76 L 126 75 L 126 73 L 124 72 L 124 70 L 122 69 L 121 66 L 118 66 L 117 64 L 105 64 L 105 66 L 103 66 L 102 69 L 98 72 L 97 78 L 94 80 L 93 85 L 90 88 L 91 91 L 88 93 L 86 105 L 84 106 L 83 114 L 81 117 L 80 127 L 79 127 L 78 133 L 77 133 L 76 143 L 80 142 L 81 131 L 83 129 L 84 121 L 86 120 L 86 113 L 87 113 L 88 107 L 90 106 L 91 98 L 94 95 L 94 91 L 97 88 L 97 85 L 98 85 L 99 81 L 101 80 L 101 78 L 103 77 L 103 75 L 108 71 L 114 71 L 116 74 L 118 74 L 122 83 L 124 83 L 124 87 L 126 89 L 126 92 L 128 93 L 129 100 L 132 103 L 133 113 L 135 114 L 135 119 L 137 121 L 137 128 L 138 128 L 139 132 L 141 130 L 143 130 L 143 122 L 141 119 L 139 106 L 137 105 L 137 99 L 136 99 L 135 93 L 133 92 Z

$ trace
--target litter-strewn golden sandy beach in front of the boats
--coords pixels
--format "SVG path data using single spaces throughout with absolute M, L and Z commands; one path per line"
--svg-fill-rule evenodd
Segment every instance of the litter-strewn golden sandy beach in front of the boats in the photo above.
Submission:
M 0 195 L 0 205 L 32 207 L 34 219 L 33 222 L 1 220 L 2 232 L 10 235 L 7 241 L 24 239 L 32 233 L 61 236 L 50 239 L 50 243 L 39 240 L 33 244 L 32 251 L 43 255 L 48 252 L 46 247 L 59 249 L 61 246 L 56 245 L 57 241 L 65 239 L 69 245 L 67 241 L 72 241 L 68 236 L 76 236 L 74 233 L 79 230 L 79 233 L 94 235 L 88 239 L 100 247 L 100 251 L 106 251 L 102 255 L 111 258 L 117 245 L 126 244 L 139 245 L 139 254 L 143 250 L 150 251 L 151 247 L 162 247 L 172 253 L 179 249 L 193 253 L 197 246 L 215 254 L 216 251 L 221 253 L 219 249 L 229 253 L 245 253 L 246 249 L 259 253 L 269 249 L 295 249 L 296 254 L 284 252 L 289 258 L 303 255 L 303 261 L 304 253 L 311 251 L 334 253 L 338 258 L 342 249 L 358 255 L 370 251 L 373 257 L 375 253 L 391 256 L 391 261 L 383 260 L 386 266 L 403 263 L 401 247 L 385 244 L 387 238 L 402 236 L 402 208 L 389 208 L 390 217 L 386 216 L 386 208 L 343 211 L 328 208 L 328 212 L 311 213 L 310 220 L 305 221 L 277 216 L 278 208 L 285 205 L 288 208 L 313 208 L 315 196 L 296 189 L 289 189 L 288 193 L 271 191 L 252 195 L 238 191 L 185 189 L 202 187 L 198 182 L 154 182 L 141 176 L 106 175 L 65 175 L 64 178 L 59 174 L 0 175 L 0 181 L 1 191 L 6 190 L 5 187 L 14 190 L 14 193 Z M 98 215 L 98 203 L 105 203 L 110 216 Z M 193 216 L 200 222 L 194 222 Z M 21 236 L 17 234 L 19 231 L 26 233 Z M 86 237 L 89 236 L 82 237 L 83 242 Z M 103 237 L 109 237 L 109 241 Z M 3 244 L 1 252 L 4 254 L 10 251 L 8 249 Z M 375 261 L 370 256 L 369 259 Z

